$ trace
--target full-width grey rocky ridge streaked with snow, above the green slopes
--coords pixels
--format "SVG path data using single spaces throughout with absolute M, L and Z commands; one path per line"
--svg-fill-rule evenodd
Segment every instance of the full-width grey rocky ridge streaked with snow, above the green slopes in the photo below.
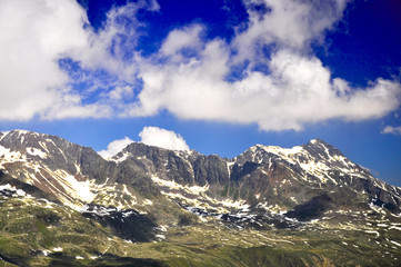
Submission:
M 59 137 L 14 130 L 0 134 L 0 168 L 76 209 L 143 208 L 167 197 L 204 212 L 287 211 L 312 202 L 321 211 L 377 205 L 399 214 L 401 202 L 400 188 L 320 139 L 290 149 L 257 145 L 233 159 L 133 142 L 104 160 Z

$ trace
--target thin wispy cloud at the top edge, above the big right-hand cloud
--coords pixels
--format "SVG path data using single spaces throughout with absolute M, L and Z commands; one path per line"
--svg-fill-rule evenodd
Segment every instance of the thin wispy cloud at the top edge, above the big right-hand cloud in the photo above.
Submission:
M 248 9 L 248 29 L 237 34 L 233 44 L 238 59 L 259 61 L 263 44 L 274 43 L 285 49 L 309 48 L 312 40 L 323 36 L 342 18 L 349 0 L 298 1 L 298 0 L 244 0 Z M 269 9 L 261 14 L 254 4 Z

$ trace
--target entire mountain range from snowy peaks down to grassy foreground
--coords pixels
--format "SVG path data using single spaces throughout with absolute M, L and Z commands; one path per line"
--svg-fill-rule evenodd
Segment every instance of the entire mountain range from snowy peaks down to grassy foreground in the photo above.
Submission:
M 320 139 L 104 159 L 0 132 L 1 266 L 400 266 L 401 188 Z

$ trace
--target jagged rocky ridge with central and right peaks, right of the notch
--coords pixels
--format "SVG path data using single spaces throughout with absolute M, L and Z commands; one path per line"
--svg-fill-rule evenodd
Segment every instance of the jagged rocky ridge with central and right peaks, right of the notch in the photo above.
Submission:
M 233 159 L 131 144 L 111 160 L 150 176 L 163 195 L 184 205 L 203 204 L 196 208 L 288 210 L 324 199 L 330 207 L 380 204 L 400 212 L 400 188 L 375 179 L 320 139 L 291 149 L 257 145 Z

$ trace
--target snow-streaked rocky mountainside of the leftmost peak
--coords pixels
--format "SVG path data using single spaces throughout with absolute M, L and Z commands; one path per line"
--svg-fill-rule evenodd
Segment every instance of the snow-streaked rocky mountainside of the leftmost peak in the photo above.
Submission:
M 90 184 L 104 181 L 116 164 L 91 148 L 23 130 L 0 136 L 0 168 L 73 206 L 92 201 Z

